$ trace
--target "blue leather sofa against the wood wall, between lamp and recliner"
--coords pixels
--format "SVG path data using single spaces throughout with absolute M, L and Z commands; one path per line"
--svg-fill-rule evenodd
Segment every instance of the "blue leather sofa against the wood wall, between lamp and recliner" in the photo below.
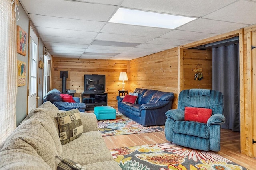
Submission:
M 143 126 L 164 125 L 166 111 L 172 108 L 173 93 L 136 88 L 135 104 L 123 102 L 124 96 L 117 96 L 118 111 Z

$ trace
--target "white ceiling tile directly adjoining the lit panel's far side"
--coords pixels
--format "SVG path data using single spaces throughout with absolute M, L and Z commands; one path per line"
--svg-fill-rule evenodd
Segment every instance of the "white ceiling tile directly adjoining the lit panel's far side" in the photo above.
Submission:
M 171 29 L 107 23 L 100 32 L 112 33 L 112 34 L 136 35 L 136 36 L 144 36 L 144 37 L 159 37 L 160 35 L 163 35 L 169 32 L 170 30 Z

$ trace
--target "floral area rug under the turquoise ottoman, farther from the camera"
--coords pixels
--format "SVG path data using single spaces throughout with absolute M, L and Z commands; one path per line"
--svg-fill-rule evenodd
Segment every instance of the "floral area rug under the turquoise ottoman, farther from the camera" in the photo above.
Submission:
M 86 113 L 94 113 L 94 111 L 86 111 Z M 102 136 L 127 135 L 134 133 L 148 133 L 164 131 L 160 126 L 144 127 L 139 123 L 129 119 L 123 114 L 116 112 L 116 119 L 98 120 L 98 131 Z

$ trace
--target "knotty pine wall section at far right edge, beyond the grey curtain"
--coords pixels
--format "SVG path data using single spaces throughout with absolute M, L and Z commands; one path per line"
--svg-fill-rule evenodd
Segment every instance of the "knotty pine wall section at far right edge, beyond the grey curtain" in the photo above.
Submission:
M 255 34 L 256 25 L 240 29 L 240 129 L 241 129 L 241 152 L 250 157 L 256 157 L 256 145 L 252 140 L 256 138 L 256 105 L 254 93 L 255 82 L 253 70 L 255 55 L 252 53 L 252 44 L 256 42 Z M 255 49 L 254 49 L 255 50 Z M 254 57 L 254 58 L 253 58 Z

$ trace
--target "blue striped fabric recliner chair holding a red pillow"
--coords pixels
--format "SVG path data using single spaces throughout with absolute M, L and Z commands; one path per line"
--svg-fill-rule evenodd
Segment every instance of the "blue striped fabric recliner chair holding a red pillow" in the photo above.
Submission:
M 185 107 L 212 109 L 207 123 L 184 121 Z M 223 115 L 223 94 L 215 90 L 182 90 L 178 109 L 166 112 L 165 137 L 177 145 L 200 150 L 220 151 L 220 125 Z

